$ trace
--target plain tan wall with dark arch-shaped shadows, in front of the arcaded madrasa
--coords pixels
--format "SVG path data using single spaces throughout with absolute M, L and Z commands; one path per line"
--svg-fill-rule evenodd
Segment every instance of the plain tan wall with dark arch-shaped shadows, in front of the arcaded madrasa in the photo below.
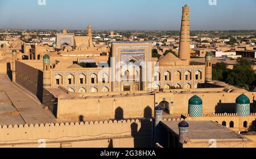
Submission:
M 65 99 L 58 98 L 57 118 L 123 119 L 154 115 L 154 96 L 122 96 L 106 98 Z

